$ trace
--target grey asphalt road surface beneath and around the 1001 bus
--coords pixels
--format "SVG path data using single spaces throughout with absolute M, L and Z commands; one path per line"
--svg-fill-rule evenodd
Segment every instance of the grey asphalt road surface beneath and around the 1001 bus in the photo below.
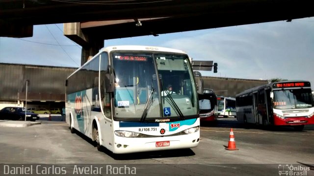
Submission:
M 314 126 L 306 126 L 303 131 L 244 128 L 234 118 L 221 118 L 216 125 L 201 126 L 201 141 L 196 148 L 114 155 L 106 150 L 97 151 L 91 140 L 81 134 L 71 134 L 69 127 L 58 118 L 41 122 L 41 125 L 21 128 L 0 127 L 0 175 L 9 172 L 11 166 L 21 165 L 32 165 L 32 169 L 53 165 L 64 167 L 66 175 L 80 175 L 79 165 L 94 171 L 84 175 L 107 175 L 110 171 L 112 175 L 118 171 L 127 172 L 120 175 L 132 175 L 128 172 L 135 168 L 136 175 L 145 176 L 278 176 L 279 167 L 287 164 L 299 170 L 309 168 L 303 175 L 314 175 L 311 170 L 314 169 Z M 231 128 L 238 151 L 225 150 Z M 101 167 L 103 170 L 98 171 L 102 173 L 96 173 Z M 303 170 L 293 170 L 294 175 L 300 172 Z

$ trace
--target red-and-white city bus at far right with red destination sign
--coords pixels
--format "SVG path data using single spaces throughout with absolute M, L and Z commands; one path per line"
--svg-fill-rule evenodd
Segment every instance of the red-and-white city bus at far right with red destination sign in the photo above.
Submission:
M 293 126 L 302 130 L 314 124 L 311 84 L 304 80 L 269 83 L 236 95 L 236 117 L 239 122 Z

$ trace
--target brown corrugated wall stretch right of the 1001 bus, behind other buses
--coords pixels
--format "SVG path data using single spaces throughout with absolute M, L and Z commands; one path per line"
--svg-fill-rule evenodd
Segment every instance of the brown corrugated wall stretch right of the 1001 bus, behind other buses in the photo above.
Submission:
M 198 79 L 198 77 L 196 77 Z M 217 96 L 234 97 L 235 95 L 256 87 L 267 84 L 267 80 L 257 79 L 238 79 L 229 77 L 203 76 L 204 88 L 213 89 Z

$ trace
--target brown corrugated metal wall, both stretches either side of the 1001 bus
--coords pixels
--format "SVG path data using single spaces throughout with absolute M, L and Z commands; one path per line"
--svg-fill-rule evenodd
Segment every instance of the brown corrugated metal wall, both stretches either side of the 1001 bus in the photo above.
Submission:
M 64 101 L 65 80 L 76 68 L 0 64 L 0 100 Z M 196 77 L 198 79 L 198 77 Z M 267 84 L 266 80 L 204 76 L 204 88 L 213 89 L 218 96 L 235 97 L 249 88 Z

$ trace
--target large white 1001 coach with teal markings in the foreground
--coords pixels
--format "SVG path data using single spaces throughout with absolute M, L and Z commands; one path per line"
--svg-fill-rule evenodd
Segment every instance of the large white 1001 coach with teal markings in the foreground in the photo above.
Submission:
M 161 92 L 169 86 L 171 95 Z M 66 81 L 66 122 L 97 149 L 131 153 L 196 147 L 198 94 L 181 50 L 103 48 Z

